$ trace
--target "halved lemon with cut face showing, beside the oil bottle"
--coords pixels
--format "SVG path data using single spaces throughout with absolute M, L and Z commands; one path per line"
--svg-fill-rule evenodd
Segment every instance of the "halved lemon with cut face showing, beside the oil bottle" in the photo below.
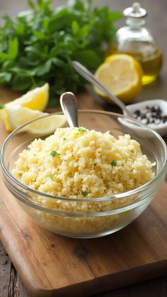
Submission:
M 96 70 L 95 77 L 124 103 L 131 101 L 142 89 L 141 65 L 133 57 L 126 54 L 107 57 Z M 96 86 L 94 86 L 94 91 L 111 103 L 111 100 Z

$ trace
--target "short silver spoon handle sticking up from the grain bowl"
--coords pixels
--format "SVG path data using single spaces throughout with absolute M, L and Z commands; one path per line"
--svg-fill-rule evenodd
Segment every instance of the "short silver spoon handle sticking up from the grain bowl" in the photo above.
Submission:
M 78 127 L 78 106 L 75 95 L 71 92 L 63 93 L 60 105 L 71 128 Z

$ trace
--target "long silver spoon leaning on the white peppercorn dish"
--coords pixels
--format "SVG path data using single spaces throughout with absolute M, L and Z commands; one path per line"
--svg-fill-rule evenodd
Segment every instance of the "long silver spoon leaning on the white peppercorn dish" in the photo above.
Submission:
M 98 89 L 100 89 L 112 101 L 114 101 L 122 109 L 123 114 L 125 114 L 126 116 L 132 117 L 131 113 L 128 111 L 125 104 L 122 101 L 120 101 L 120 99 L 115 97 L 110 91 L 108 91 L 86 67 L 84 67 L 82 64 L 80 64 L 77 61 L 72 61 L 72 66 L 80 75 L 82 75 L 90 83 L 98 87 Z

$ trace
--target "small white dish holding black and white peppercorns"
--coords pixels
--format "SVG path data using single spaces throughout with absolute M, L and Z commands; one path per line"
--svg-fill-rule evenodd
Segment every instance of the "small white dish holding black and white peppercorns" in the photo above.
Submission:
M 146 106 L 153 107 L 155 105 L 159 105 L 163 113 L 167 115 L 167 102 L 161 99 L 147 100 L 139 103 L 134 103 L 131 105 L 127 105 L 126 108 L 130 111 L 131 114 L 133 114 L 136 109 L 142 111 L 146 108 Z M 125 112 L 123 112 L 123 114 L 125 115 Z M 167 133 L 167 121 L 164 124 L 148 124 L 148 126 L 157 131 L 161 136 Z

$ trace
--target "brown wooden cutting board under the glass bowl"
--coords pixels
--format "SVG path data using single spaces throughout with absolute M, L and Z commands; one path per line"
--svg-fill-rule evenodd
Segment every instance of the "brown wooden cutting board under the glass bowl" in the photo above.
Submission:
M 1 96 L 2 104 L 17 94 L 3 89 Z M 86 93 L 77 98 L 81 109 L 101 109 Z M 1 122 L 0 144 L 7 135 Z M 39 227 L 23 212 L 1 177 L 0 238 L 24 285 L 35 297 L 90 296 L 160 277 L 167 274 L 166 192 L 165 182 L 144 213 L 119 232 L 75 239 Z

